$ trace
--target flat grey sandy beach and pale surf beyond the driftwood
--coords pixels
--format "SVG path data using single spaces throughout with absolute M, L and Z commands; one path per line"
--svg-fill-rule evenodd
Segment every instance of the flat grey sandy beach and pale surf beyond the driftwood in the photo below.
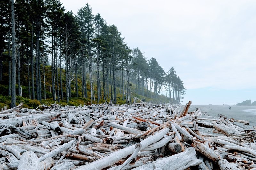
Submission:
M 227 118 L 248 120 L 250 127 L 256 126 L 256 106 L 191 105 L 188 111 L 195 111 L 196 108 L 200 108 L 202 113 L 212 117 L 219 117 L 222 114 Z

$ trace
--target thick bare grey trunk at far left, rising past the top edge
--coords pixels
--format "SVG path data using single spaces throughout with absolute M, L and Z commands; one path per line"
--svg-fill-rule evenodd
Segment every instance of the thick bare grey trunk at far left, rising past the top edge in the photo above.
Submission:
M 15 19 L 14 19 L 14 0 L 12 0 L 12 101 L 11 108 L 16 106 L 16 43 L 15 43 Z

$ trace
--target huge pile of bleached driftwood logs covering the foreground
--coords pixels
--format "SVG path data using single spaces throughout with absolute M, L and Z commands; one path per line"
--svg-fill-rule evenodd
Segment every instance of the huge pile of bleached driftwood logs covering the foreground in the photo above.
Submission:
M 241 125 L 249 122 L 188 112 L 190 104 L 20 104 L 0 112 L 0 169 L 256 168 L 256 130 Z

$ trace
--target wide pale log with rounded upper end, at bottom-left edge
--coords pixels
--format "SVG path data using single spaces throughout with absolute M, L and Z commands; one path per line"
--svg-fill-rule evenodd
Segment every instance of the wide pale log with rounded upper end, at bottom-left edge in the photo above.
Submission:
M 18 170 L 39 170 L 39 159 L 32 151 L 23 153 L 20 157 Z

